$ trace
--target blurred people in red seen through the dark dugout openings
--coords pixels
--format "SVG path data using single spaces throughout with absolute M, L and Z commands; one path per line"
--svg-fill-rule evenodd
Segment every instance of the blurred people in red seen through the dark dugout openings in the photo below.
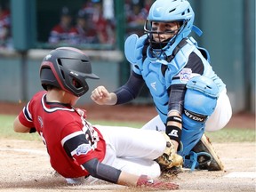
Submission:
M 125 0 L 125 35 L 143 35 L 153 0 Z M 46 44 L 115 44 L 113 0 L 36 1 L 37 42 Z M 12 49 L 10 0 L 0 0 L 0 48 Z

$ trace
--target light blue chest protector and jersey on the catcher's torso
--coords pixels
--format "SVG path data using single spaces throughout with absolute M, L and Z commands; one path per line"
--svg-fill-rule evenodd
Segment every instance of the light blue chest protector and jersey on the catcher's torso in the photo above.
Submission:
M 131 37 L 134 38 L 134 35 L 132 36 Z M 142 49 L 146 39 L 146 35 L 141 36 L 139 39 L 137 39 L 136 44 L 134 44 L 134 42 L 129 44 L 130 40 L 128 37 L 127 42 L 125 43 L 125 46 L 127 46 L 125 47 L 125 50 L 130 50 L 130 52 L 134 50 L 135 53 L 132 55 L 132 60 L 129 60 L 129 53 L 125 54 L 126 57 L 128 56 L 127 59 L 132 63 L 132 70 L 136 74 L 142 76 L 147 84 L 156 105 L 156 110 L 164 124 L 166 122 L 168 113 L 168 88 L 172 84 L 187 84 L 189 78 L 198 75 L 193 74 L 193 71 L 189 72 L 189 69 L 185 68 L 191 52 L 195 52 L 196 55 L 202 60 L 204 64 L 203 76 L 211 78 L 212 81 L 218 85 L 220 92 L 225 88 L 226 85 L 212 70 L 210 63 L 204 59 L 204 56 L 196 47 L 196 41 L 192 37 L 186 40 L 187 44 L 180 48 L 180 51 L 176 53 L 175 57 L 170 62 L 167 62 L 164 60 L 164 58 L 156 59 L 152 57 L 149 52 L 149 47 L 147 57 L 145 60 L 143 60 Z M 164 72 L 164 76 L 162 74 L 163 65 L 167 67 Z

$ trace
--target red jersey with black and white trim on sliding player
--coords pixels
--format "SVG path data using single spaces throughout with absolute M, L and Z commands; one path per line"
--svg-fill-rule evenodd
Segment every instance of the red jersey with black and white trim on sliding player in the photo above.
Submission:
M 35 127 L 50 156 L 52 168 L 65 178 L 87 176 L 82 164 L 106 153 L 106 143 L 97 128 L 67 104 L 47 102 L 46 92 L 37 92 L 19 115 L 20 123 Z

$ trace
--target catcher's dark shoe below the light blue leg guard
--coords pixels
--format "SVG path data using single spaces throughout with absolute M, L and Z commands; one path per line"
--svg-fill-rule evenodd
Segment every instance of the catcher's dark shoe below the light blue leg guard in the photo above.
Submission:
M 224 166 L 220 157 L 212 148 L 211 141 L 204 134 L 191 150 L 188 156 L 185 156 L 185 167 L 190 167 L 191 171 L 195 169 L 208 171 L 223 171 Z

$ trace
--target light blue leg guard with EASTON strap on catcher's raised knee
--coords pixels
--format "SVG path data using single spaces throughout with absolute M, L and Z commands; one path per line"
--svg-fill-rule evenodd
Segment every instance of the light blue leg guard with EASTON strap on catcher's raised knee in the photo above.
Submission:
M 187 84 L 182 114 L 181 156 L 186 156 L 201 139 L 205 122 L 216 108 L 219 88 L 212 79 L 195 76 Z

